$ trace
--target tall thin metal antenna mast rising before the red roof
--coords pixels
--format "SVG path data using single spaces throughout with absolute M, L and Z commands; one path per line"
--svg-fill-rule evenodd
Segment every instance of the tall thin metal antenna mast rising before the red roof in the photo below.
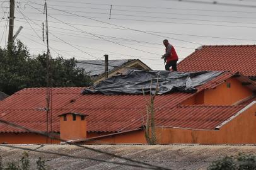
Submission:
M 51 108 L 50 108 L 50 102 L 51 102 L 51 89 L 50 89 L 50 57 L 49 57 L 49 33 L 48 33 L 48 16 L 47 16 L 47 3 L 45 0 L 45 16 L 46 16 L 46 42 L 47 42 L 47 55 L 46 55 L 46 131 L 49 132 L 49 122 L 50 125 L 52 123 L 51 120 Z M 52 127 L 52 126 L 50 126 Z M 49 143 L 49 137 L 47 134 L 46 137 L 46 143 Z

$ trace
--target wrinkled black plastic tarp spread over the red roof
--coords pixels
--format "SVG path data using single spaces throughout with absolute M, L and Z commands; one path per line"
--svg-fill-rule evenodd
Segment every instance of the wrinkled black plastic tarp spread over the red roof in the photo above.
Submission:
M 126 75 L 113 76 L 90 88 L 84 89 L 82 94 L 143 94 L 149 93 L 152 80 L 153 91 L 158 79 L 158 94 L 183 91 L 193 93 L 197 91 L 196 86 L 211 81 L 222 72 L 170 72 L 170 71 L 138 71 L 127 72 Z

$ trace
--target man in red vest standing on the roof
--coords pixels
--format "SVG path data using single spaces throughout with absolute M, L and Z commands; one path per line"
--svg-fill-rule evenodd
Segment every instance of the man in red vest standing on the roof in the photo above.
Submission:
M 165 54 L 162 55 L 161 59 L 165 60 L 165 70 L 170 71 L 170 67 L 172 67 L 173 71 L 177 71 L 178 55 L 175 48 L 168 40 L 163 40 L 163 45 L 165 45 Z

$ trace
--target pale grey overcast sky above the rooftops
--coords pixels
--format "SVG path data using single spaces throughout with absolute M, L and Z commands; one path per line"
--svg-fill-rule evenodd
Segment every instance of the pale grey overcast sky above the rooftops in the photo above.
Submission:
M 77 60 L 140 59 L 163 70 L 163 40 L 177 50 L 179 61 L 201 45 L 256 42 L 256 1 L 222 0 L 47 0 L 52 58 Z M 0 0 L 0 46 L 8 40 L 9 1 Z M 110 15 L 111 8 L 111 15 Z M 17 39 L 31 56 L 47 50 L 43 41 L 44 1 L 16 1 Z M 45 30 L 44 26 L 44 30 Z M 44 33 L 45 35 L 45 33 Z M 46 39 L 46 37 L 45 37 Z

